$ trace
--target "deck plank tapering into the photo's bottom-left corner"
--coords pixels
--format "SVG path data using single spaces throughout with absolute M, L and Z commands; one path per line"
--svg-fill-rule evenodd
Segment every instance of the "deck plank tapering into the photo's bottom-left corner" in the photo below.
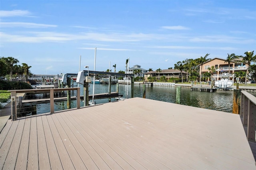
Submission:
M 10 150 L 10 146 L 12 144 L 12 140 L 14 138 L 15 132 L 17 130 L 19 121 L 15 121 L 12 123 L 12 127 L 8 131 L 6 138 L 4 139 L 4 142 L 0 148 L 0 169 L 3 168 L 4 163 L 6 161 L 6 157 L 8 155 L 8 152 Z

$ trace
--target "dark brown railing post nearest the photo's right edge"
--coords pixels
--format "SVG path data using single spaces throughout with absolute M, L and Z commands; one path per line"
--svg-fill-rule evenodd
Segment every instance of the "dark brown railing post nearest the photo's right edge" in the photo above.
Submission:
M 247 138 L 255 142 L 255 129 L 256 129 L 256 107 L 252 101 L 248 103 L 248 126 Z

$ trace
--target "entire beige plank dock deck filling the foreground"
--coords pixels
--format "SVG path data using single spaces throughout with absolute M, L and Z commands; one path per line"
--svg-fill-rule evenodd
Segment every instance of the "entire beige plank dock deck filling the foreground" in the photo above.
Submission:
M 256 169 L 239 115 L 132 98 L 8 120 L 0 169 Z

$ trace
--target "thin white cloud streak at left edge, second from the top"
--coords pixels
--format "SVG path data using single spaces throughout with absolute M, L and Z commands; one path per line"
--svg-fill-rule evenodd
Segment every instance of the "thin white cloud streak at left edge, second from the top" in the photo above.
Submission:
M 36 24 L 32 22 L 0 22 L 1 27 L 24 27 L 24 28 L 47 28 L 57 27 L 56 25 L 49 24 Z

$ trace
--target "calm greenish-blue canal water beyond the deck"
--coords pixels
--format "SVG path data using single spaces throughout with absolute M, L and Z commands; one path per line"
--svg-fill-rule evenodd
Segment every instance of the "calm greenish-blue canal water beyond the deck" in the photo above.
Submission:
M 83 86 L 80 85 L 80 95 L 84 95 Z M 89 94 L 92 94 L 93 85 L 90 84 Z M 128 87 L 128 98 L 130 98 L 131 94 L 131 86 L 130 85 L 119 85 L 119 93 L 123 95 L 123 98 L 127 96 L 127 87 Z M 111 85 L 111 91 L 116 91 L 116 85 Z M 108 93 L 108 85 L 95 85 L 95 94 L 98 93 Z M 252 95 L 256 96 L 255 92 L 251 92 Z M 76 91 L 74 93 L 71 92 L 71 95 L 76 96 Z M 142 86 L 135 85 L 134 86 L 134 97 L 142 97 Z M 176 102 L 176 88 L 175 87 L 147 87 L 146 86 L 146 98 L 153 99 L 158 101 Z M 111 99 L 111 101 L 115 101 L 115 99 Z M 96 104 L 99 103 L 108 103 L 108 99 L 96 99 L 94 100 Z M 191 91 L 190 88 L 182 88 L 181 89 L 181 99 L 180 104 L 189 105 L 193 107 L 200 107 L 205 109 L 212 109 L 216 111 L 224 111 L 228 113 L 232 113 L 232 104 L 233 104 L 233 91 L 222 91 L 217 90 L 214 93 L 209 92 L 200 92 L 200 91 Z M 36 104 L 36 113 L 49 113 L 50 107 L 49 103 L 41 103 Z M 84 102 L 81 101 L 81 106 L 84 105 Z M 71 101 L 71 107 L 76 108 L 76 101 Z M 66 109 L 66 102 L 56 102 L 54 103 L 54 110 L 60 111 Z

